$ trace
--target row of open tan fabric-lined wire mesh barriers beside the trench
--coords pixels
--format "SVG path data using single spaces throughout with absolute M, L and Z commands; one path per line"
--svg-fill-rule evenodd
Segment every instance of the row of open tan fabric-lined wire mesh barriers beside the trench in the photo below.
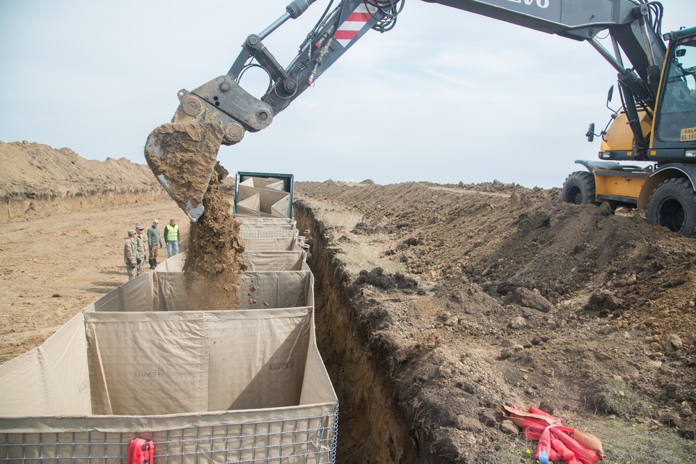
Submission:
M 248 310 L 188 307 L 177 255 L 0 365 L 0 461 L 121 463 L 145 438 L 155 464 L 333 463 L 314 278 L 290 248 L 247 248 L 241 291 L 261 296 Z

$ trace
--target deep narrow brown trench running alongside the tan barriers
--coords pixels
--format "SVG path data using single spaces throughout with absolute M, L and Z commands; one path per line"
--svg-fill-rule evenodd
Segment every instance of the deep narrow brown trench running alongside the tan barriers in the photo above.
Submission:
M 353 285 L 325 226 L 303 202 L 295 202 L 299 230 L 314 235 L 310 267 L 315 275 L 317 344 L 339 401 L 337 464 L 442 463 L 432 438 L 413 426 L 388 372 L 388 353 L 370 342 L 370 322 L 361 314 Z M 412 426 L 409 426 L 411 424 Z

